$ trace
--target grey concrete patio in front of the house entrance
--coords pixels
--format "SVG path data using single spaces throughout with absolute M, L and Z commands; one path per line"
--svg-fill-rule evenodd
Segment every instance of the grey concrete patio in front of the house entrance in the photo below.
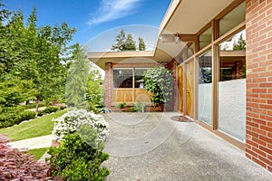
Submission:
M 194 122 L 171 120 L 179 113 L 104 115 L 110 124 L 104 166 L 108 181 L 272 180 L 244 151 Z

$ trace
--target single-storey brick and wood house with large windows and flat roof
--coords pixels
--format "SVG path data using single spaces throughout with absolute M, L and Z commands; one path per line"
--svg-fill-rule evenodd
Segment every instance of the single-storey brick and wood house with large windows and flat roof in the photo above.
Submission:
M 240 36 L 246 50 L 233 47 Z M 105 70 L 107 107 L 148 103 L 142 71 L 170 69 L 177 84 L 173 108 L 272 171 L 271 0 L 172 0 L 153 51 L 88 57 Z

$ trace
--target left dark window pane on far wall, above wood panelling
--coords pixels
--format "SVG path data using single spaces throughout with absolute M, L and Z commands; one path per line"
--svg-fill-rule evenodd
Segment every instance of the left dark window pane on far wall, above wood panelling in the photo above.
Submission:
M 114 88 L 132 88 L 132 69 L 113 70 Z

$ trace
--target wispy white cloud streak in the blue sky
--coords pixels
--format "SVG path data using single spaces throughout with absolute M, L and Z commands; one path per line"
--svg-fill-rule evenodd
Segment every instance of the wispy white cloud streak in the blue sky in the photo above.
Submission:
M 102 24 L 135 13 L 142 0 L 102 0 L 102 4 L 88 22 L 90 25 Z

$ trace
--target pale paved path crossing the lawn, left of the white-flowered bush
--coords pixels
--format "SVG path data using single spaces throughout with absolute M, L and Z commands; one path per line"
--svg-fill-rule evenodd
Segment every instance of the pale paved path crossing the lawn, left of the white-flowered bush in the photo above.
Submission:
M 28 138 L 20 141 L 10 142 L 8 145 L 10 145 L 12 148 L 19 149 L 50 148 L 53 139 L 55 139 L 53 135 L 47 135 L 43 137 Z

